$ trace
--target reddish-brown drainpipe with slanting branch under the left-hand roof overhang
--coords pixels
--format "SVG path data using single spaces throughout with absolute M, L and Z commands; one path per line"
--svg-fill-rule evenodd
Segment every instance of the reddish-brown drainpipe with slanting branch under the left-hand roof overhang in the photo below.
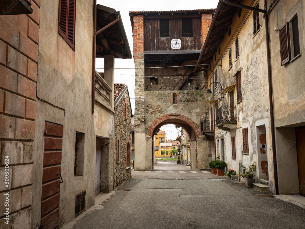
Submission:
M 91 113 L 94 112 L 94 100 L 95 100 L 95 57 L 96 57 L 96 36 L 99 33 L 102 33 L 104 30 L 109 28 L 110 26 L 114 25 L 120 20 L 120 17 L 117 16 L 117 19 L 115 19 L 113 22 L 109 23 L 108 25 L 104 26 L 99 31 L 96 31 L 96 0 L 93 2 L 93 20 L 94 20 L 94 26 L 93 26 L 93 60 L 92 60 L 92 107 L 91 107 Z

